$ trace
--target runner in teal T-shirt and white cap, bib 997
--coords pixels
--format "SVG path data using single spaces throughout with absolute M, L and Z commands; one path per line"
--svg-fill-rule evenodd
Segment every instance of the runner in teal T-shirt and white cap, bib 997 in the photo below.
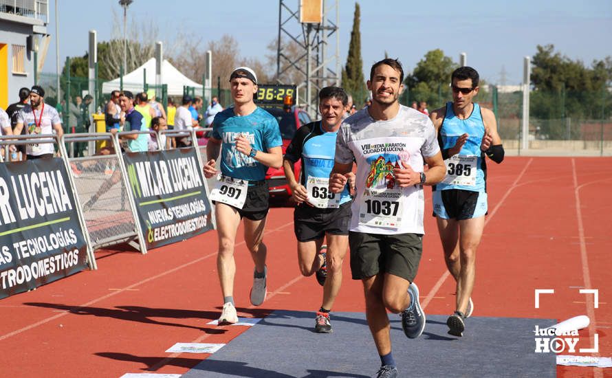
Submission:
M 206 146 L 208 162 L 204 175 L 217 175 L 215 159 L 221 151 L 221 175 L 210 199 L 215 203 L 219 254 L 217 268 L 223 293 L 223 311 L 219 324 L 238 322 L 234 305 L 234 241 L 244 218 L 244 240 L 255 263 L 251 303 L 259 306 L 265 300 L 267 249 L 263 229 L 269 210 L 267 167 L 281 168 L 283 152 L 278 122 L 253 102 L 257 77 L 252 69 L 238 67 L 230 75 L 234 106 L 215 115 L 212 135 Z

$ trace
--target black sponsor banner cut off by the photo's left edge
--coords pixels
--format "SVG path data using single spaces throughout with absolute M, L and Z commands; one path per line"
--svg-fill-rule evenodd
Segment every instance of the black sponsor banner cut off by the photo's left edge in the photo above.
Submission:
M 87 267 L 62 159 L 0 164 L 0 298 Z

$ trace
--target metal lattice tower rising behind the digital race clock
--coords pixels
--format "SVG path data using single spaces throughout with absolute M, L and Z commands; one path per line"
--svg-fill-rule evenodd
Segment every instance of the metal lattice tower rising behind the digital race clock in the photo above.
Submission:
M 276 81 L 297 85 L 296 103 L 312 118 L 318 112 L 318 91 L 328 85 L 340 86 L 340 1 L 322 3 L 321 23 L 300 23 L 300 1 L 279 0 L 278 5 Z M 298 53 L 289 52 L 285 41 L 293 42 Z M 287 82 L 290 70 L 299 72 L 294 82 Z

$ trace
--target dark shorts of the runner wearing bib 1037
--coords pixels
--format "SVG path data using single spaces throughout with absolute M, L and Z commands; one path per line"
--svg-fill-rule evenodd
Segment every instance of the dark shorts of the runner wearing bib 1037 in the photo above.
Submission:
M 384 272 L 413 282 L 423 252 L 423 235 L 383 235 L 351 231 L 349 246 L 353 280 Z

